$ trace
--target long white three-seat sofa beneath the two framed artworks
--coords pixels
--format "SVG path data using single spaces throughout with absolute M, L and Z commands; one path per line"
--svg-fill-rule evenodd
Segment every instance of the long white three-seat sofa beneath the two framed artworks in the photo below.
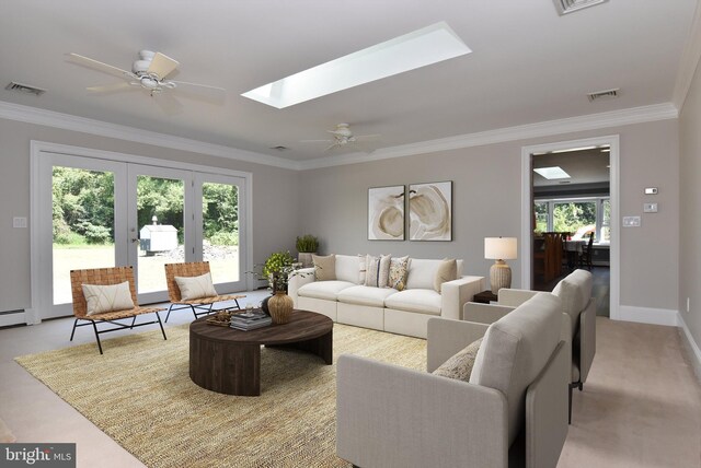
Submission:
M 462 306 L 485 289 L 484 277 L 463 277 L 434 290 L 434 278 L 443 260 L 412 258 L 406 289 L 374 288 L 360 283 L 360 257 L 335 256 L 335 280 L 317 281 L 313 268 L 292 276 L 288 294 L 295 307 L 329 316 L 340 324 L 426 338 L 430 317 L 460 319 Z

